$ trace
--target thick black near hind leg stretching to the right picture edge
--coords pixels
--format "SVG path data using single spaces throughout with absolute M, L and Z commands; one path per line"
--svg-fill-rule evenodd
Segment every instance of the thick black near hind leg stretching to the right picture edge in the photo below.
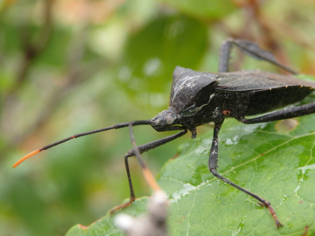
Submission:
M 263 122 L 270 122 L 270 121 L 279 121 L 285 119 L 291 119 L 303 115 L 311 115 L 315 113 L 315 102 L 292 107 L 289 109 L 276 111 L 267 115 L 263 115 L 260 117 L 256 117 L 253 119 L 246 119 L 245 117 L 241 117 L 239 121 L 243 122 L 244 124 L 255 124 L 255 123 L 263 123 Z

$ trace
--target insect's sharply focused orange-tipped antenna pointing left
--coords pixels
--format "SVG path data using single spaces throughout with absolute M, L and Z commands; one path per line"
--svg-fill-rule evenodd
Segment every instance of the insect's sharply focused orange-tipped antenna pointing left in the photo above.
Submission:
M 32 151 L 31 153 L 25 155 L 20 160 L 15 162 L 14 165 L 13 165 L 13 168 L 15 168 L 16 166 L 20 165 L 23 161 L 25 161 L 26 159 L 30 158 L 31 156 L 33 156 L 33 155 L 35 155 L 35 154 L 37 154 L 37 153 L 39 153 L 39 152 L 41 152 L 43 150 L 49 149 L 51 147 L 54 147 L 54 146 L 56 146 L 56 145 L 58 145 L 60 143 L 64 143 L 66 141 L 69 141 L 69 140 L 71 140 L 73 138 L 79 138 L 81 136 L 94 134 L 94 133 L 99 133 L 99 132 L 103 132 L 103 131 L 110 130 L 110 129 L 120 129 L 120 128 L 123 128 L 123 127 L 127 127 L 129 125 L 136 126 L 136 125 L 151 125 L 151 124 L 152 124 L 152 120 L 130 121 L 130 122 L 118 123 L 118 124 L 115 124 L 113 126 L 109 126 L 109 127 L 106 127 L 106 128 L 97 129 L 97 130 L 93 130 L 93 131 L 89 131 L 89 132 L 78 133 L 78 134 L 72 135 L 71 137 L 61 139 L 61 140 L 59 140 L 59 141 L 57 141 L 55 143 L 51 143 L 49 145 L 43 146 L 40 149 Z

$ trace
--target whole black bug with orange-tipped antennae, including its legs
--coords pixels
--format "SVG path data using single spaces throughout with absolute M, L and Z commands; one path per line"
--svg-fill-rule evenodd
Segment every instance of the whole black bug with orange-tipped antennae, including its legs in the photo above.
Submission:
M 119 123 L 103 129 L 73 135 L 69 138 L 65 138 L 31 152 L 16 162 L 13 167 L 16 167 L 23 160 L 26 160 L 30 156 L 42 150 L 49 149 L 72 138 L 78 138 L 97 132 L 129 126 L 134 148 L 125 155 L 124 160 L 129 180 L 130 201 L 114 208 L 112 210 L 113 212 L 130 205 L 135 200 L 128 166 L 128 157 L 138 157 L 146 179 L 154 185 L 152 175 L 146 168 L 145 164 L 141 161 L 140 154 L 154 149 L 164 143 L 168 143 L 175 138 L 179 138 L 180 136 L 186 134 L 188 130 L 191 132 L 192 138 L 196 138 L 196 126 L 214 122 L 213 140 L 209 156 L 210 172 L 215 177 L 218 177 L 224 182 L 260 201 L 269 209 L 277 227 L 280 226 L 281 223 L 278 221 L 269 201 L 238 186 L 235 183 L 232 183 L 218 174 L 216 170 L 218 167 L 218 133 L 224 119 L 229 117 L 233 117 L 244 124 L 254 124 L 290 119 L 315 113 L 315 103 L 313 102 L 273 112 L 253 119 L 245 118 L 247 115 L 266 113 L 268 111 L 301 101 L 304 97 L 314 91 L 313 87 L 315 87 L 315 83 L 301 81 L 292 76 L 278 75 L 259 70 L 228 72 L 232 45 L 237 46 L 244 53 L 256 59 L 266 60 L 285 70 L 288 70 L 292 74 L 296 74 L 284 65 L 279 64 L 272 53 L 259 48 L 259 46 L 253 42 L 232 39 L 226 40 L 221 48 L 219 73 L 198 72 L 182 68 L 180 66 L 175 68 L 173 73 L 173 85 L 169 101 L 169 109 L 163 110 L 153 119 Z M 158 132 L 172 130 L 181 131 L 175 135 L 137 147 L 135 145 L 132 132 L 132 126 L 137 125 L 151 125 Z M 157 189 L 158 187 L 153 186 L 153 188 Z

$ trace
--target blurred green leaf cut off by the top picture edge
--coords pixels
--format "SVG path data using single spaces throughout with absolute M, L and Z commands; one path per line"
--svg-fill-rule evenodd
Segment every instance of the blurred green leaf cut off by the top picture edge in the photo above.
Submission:
M 235 9 L 231 0 L 160 0 L 196 18 L 219 19 Z

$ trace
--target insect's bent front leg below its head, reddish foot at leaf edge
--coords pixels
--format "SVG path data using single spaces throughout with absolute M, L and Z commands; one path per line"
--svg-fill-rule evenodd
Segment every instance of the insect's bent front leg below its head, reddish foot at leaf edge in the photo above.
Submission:
M 176 138 L 179 138 L 181 136 L 183 136 L 184 134 L 187 133 L 187 130 L 183 130 L 181 132 L 178 132 L 177 134 L 174 134 L 174 135 L 170 135 L 168 137 L 165 137 L 165 138 L 161 138 L 161 139 L 158 139 L 156 141 L 152 141 L 150 143 L 145 143 L 145 144 L 142 144 L 140 146 L 137 147 L 137 149 L 139 150 L 139 154 L 142 154 L 144 152 L 147 152 L 151 149 L 154 149 L 158 146 L 161 146 L 165 143 L 168 143 Z M 131 149 L 128 151 L 128 153 L 124 156 L 124 160 L 125 160 L 125 167 L 126 167 L 126 171 L 127 171 L 127 176 L 128 176 L 128 183 L 129 183 L 129 189 L 130 189 L 130 200 L 129 202 L 126 202 L 122 205 L 119 205 L 115 208 L 113 208 L 110 213 L 113 214 L 115 211 L 119 210 L 119 209 L 123 209 L 127 206 L 129 206 L 133 201 L 135 201 L 135 192 L 134 192 L 134 188 L 133 188 L 133 185 L 132 185 L 132 181 L 131 181 L 131 176 L 130 176 L 130 170 L 129 170 L 129 164 L 128 164 L 128 157 L 132 157 L 132 156 L 136 156 L 136 151 L 135 149 Z

